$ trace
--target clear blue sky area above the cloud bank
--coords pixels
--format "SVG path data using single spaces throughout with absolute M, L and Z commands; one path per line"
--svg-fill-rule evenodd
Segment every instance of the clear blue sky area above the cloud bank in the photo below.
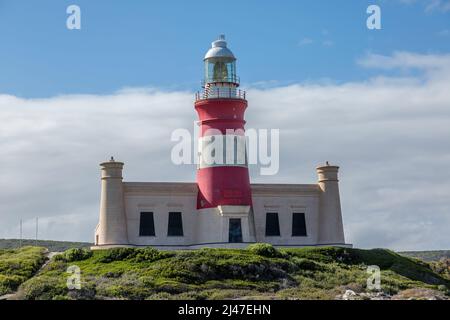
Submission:
M 244 83 L 358 81 L 368 52 L 450 51 L 450 10 L 434 0 L 0 1 L 0 93 L 108 94 L 124 87 L 196 90 L 218 34 Z M 77 4 L 82 30 L 66 29 Z M 378 4 L 382 30 L 365 26 Z

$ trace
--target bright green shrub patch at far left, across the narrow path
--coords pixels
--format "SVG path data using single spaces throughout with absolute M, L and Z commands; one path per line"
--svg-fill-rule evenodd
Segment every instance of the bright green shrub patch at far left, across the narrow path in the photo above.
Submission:
M 45 262 L 45 248 L 0 249 L 0 296 L 14 292 Z

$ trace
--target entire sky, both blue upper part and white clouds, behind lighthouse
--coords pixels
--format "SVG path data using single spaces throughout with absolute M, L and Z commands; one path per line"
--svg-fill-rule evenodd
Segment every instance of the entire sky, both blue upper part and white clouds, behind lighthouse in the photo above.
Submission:
M 66 8 L 81 8 L 68 30 Z M 381 30 L 366 9 L 381 8 Z M 92 241 L 98 163 L 128 181 L 194 181 L 170 161 L 193 130 L 203 56 L 225 34 L 247 128 L 280 129 L 280 171 L 341 167 L 346 240 L 450 247 L 450 1 L 0 0 L 0 238 Z

